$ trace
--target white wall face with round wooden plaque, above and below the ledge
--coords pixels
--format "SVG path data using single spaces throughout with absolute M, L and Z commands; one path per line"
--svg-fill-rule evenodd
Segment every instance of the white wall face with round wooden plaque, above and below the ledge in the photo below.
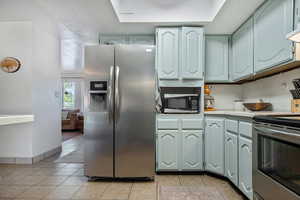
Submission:
M 1 8 L 0 8 L 1 10 Z M 0 60 L 21 61 L 17 73 L 0 70 L 0 114 L 32 114 L 32 23 L 0 22 Z M 32 156 L 32 124 L 0 126 L 0 157 Z

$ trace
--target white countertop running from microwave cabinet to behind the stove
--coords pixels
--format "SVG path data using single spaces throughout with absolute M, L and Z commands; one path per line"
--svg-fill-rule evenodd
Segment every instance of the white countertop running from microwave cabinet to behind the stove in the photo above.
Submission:
M 234 110 L 217 110 L 217 111 L 205 111 L 205 115 L 229 115 L 229 116 L 237 116 L 237 117 L 249 117 L 253 118 L 255 116 L 283 116 L 283 115 L 300 115 L 300 113 L 292 113 L 292 112 L 274 112 L 274 111 L 234 111 Z

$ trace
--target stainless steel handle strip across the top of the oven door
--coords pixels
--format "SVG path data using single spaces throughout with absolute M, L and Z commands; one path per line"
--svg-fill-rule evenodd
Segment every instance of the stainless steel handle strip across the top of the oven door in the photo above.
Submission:
M 300 144 L 300 134 L 289 133 L 285 131 L 279 131 L 279 130 L 264 128 L 264 127 L 254 127 L 254 129 L 260 135 Z

